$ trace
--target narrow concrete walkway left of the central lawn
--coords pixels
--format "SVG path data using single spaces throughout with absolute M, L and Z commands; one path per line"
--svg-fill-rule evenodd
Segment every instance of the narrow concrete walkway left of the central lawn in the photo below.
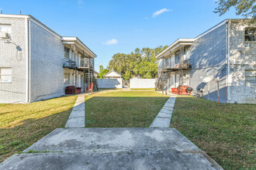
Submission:
M 85 128 L 85 93 L 78 94 L 65 128 Z

